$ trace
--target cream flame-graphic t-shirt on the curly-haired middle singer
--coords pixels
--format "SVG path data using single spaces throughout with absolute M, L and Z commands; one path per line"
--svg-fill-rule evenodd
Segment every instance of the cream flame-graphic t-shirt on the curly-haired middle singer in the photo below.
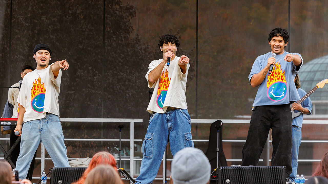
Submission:
M 152 98 L 147 107 L 149 113 L 165 113 L 167 107 L 188 109 L 185 93 L 190 64 L 187 64 L 187 71 L 183 74 L 178 65 L 179 59 L 180 57 L 175 56 L 174 60 L 170 62 L 170 66 L 165 64 L 161 76 L 155 83 L 148 81 L 148 75 L 163 59 L 154 60 L 149 64 L 146 79 L 148 87 L 154 88 Z

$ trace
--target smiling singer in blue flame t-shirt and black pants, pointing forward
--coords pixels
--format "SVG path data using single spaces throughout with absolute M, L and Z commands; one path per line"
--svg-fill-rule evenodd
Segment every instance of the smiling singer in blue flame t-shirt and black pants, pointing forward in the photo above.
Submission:
M 271 52 L 256 58 L 248 76 L 252 87 L 259 87 L 243 146 L 242 166 L 257 165 L 271 128 L 271 165 L 285 166 L 288 174 L 292 172 L 292 113 L 289 104 L 299 100 L 294 78 L 303 59 L 300 54 L 284 51 L 288 39 L 286 29 L 273 29 L 269 33 Z M 269 74 L 271 64 L 273 68 Z

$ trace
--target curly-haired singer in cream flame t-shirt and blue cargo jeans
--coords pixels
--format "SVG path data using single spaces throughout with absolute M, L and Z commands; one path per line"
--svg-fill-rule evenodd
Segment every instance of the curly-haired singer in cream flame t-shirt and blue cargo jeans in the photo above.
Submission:
M 151 117 L 142 143 L 143 158 L 136 184 L 153 182 L 168 142 L 173 156 L 185 147 L 194 147 L 185 95 L 190 64 L 187 56 L 175 55 L 179 45 L 176 36 L 162 35 L 158 47 L 163 58 L 152 61 L 148 67 L 146 80 L 154 93 L 147 108 Z

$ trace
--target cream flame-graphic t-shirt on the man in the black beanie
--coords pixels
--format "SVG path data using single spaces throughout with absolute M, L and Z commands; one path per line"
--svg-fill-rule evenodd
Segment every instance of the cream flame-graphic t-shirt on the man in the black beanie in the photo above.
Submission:
M 59 116 L 61 70 L 54 79 L 51 65 L 42 70 L 35 69 L 23 79 L 17 103 L 25 108 L 24 122 L 42 119 L 47 112 Z

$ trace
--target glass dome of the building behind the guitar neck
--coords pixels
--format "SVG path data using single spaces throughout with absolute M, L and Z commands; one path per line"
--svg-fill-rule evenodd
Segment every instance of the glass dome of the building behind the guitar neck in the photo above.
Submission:
M 301 82 L 301 88 L 306 92 L 309 92 L 317 83 L 328 78 L 328 55 L 303 64 L 298 75 Z M 318 88 L 310 98 L 311 101 L 328 101 L 328 84 L 325 84 L 322 89 Z M 327 103 L 316 106 L 318 114 L 326 114 L 327 110 Z

